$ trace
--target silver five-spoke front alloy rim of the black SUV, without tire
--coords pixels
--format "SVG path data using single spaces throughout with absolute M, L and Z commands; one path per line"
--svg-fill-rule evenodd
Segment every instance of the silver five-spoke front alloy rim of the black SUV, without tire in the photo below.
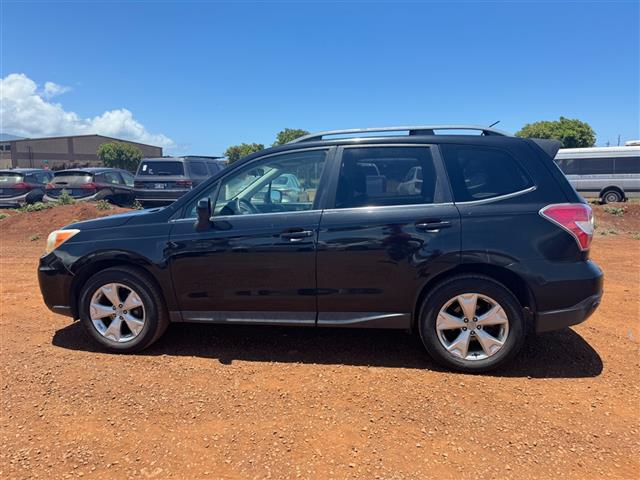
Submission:
M 100 335 L 119 343 L 136 338 L 145 322 L 140 295 L 121 283 L 107 283 L 98 288 L 91 297 L 89 315 Z

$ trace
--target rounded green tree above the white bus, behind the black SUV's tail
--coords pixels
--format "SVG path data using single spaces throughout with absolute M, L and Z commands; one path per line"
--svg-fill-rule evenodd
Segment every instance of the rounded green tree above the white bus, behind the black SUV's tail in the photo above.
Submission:
M 517 137 L 553 138 L 564 148 L 593 147 L 596 134 L 591 126 L 580 120 L 560 117 L 560 120 L 527 123 L 516 132 Z

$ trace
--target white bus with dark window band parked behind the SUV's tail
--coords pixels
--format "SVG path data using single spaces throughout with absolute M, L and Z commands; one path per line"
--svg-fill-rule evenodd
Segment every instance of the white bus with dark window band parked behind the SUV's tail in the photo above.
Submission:
M 583 197 L 614 203 L 640 196 L 640 146 L 563 148 L 555 161 Z

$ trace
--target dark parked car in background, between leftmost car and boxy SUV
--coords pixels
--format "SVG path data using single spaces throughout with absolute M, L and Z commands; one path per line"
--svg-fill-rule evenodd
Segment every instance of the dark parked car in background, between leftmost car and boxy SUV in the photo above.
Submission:
M 46 187 L 45 202 L 56 202 L 63 191 L 77 201 L 107 200 L 115 205 L 133 203 L 133 175 L 119 168 L 74 168 L 55 172 Z

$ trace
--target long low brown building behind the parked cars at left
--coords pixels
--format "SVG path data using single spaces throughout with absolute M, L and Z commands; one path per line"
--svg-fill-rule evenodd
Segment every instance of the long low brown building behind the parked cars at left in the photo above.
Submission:
M 0 168 L 43 168 L 63 170 L 74 167 L 99 167 L 98 147 L 107 142 L 123 142 L 138 147 L 143 157 L 161 157 L 162 147 L 130 142 L 102 135 L 23 138 L 0 142 Z

